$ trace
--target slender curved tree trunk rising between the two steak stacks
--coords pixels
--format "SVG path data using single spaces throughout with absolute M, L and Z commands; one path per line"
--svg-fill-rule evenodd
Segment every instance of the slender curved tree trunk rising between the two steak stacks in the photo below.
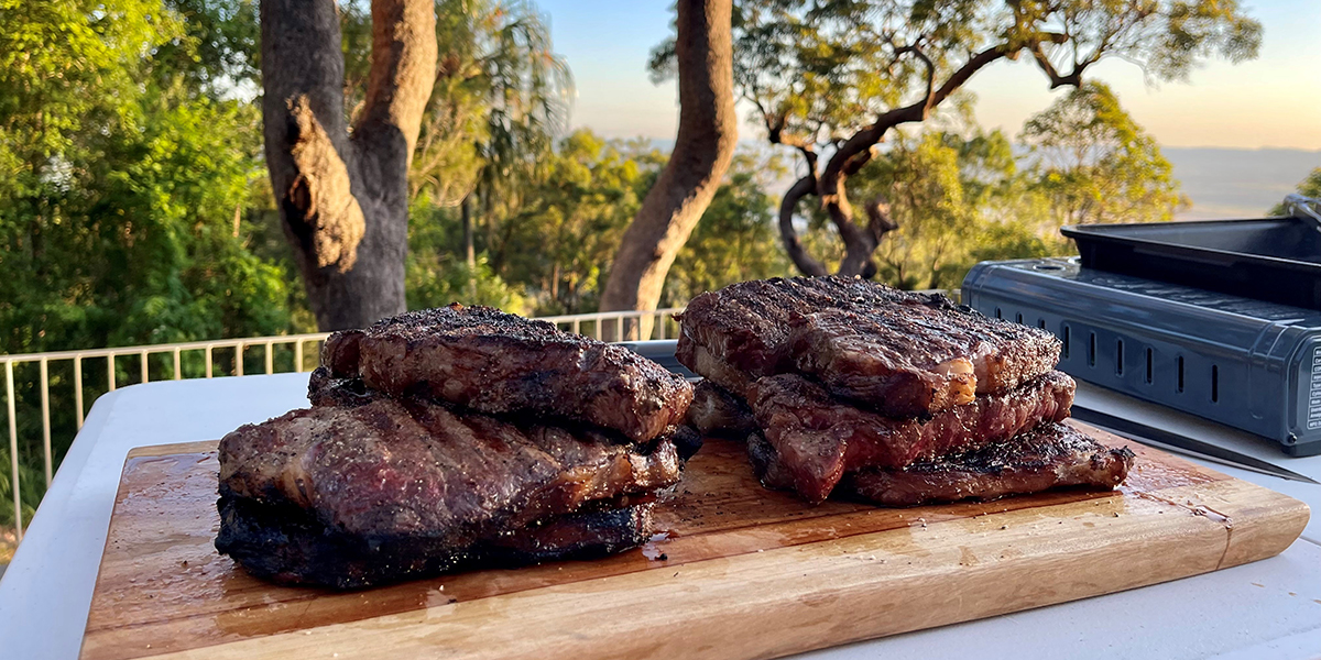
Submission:
M 731 12 L 732 0 L 678 3 L 679 132 L 670 162 L 624 232 L 601 294 L 602 312 L 657 309 L 670 265 L 733 160 L 738 119 Z M 650 334 L 650 315 L 625 327 L 627 338 Z

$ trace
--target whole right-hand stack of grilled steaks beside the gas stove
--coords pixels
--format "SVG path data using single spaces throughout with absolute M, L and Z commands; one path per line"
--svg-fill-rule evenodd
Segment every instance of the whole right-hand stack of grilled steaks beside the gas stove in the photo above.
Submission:
M 749 438 L 762 483 L 810 502 L 991 499 L 1114 487 L 1132 465 L 1059 424 L 1074 381 L 1042 330 L 943 296 L 801 277 L 704 293 L 678 358 L 705 380 L 690 421 Z

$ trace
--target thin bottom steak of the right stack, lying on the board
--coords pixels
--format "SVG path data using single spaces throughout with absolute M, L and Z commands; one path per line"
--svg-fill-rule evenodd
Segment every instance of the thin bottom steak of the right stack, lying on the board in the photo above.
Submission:
M 748 451 L 768 488 L 793 490 L 794 478 L 765 438 L 752 434 Z M 922 461 L 904 469 L 868 467 L 844 475 L 836 496 L 876 504 L 989 500 L 1065 486 L 1114 488 L 1128 475 L 1133 453 L 1110 449 L 1063 424 L 1044 424 L 1003 444 Z

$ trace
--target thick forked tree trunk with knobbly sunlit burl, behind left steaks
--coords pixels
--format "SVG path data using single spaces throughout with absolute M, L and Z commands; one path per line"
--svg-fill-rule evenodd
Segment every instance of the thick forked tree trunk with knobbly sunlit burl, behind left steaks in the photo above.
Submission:
M 334 0 L 262 1 L 262 116 L 276 206 L 321 330 L 404 310 L 408 165 L 436 77 L 431 0 L 371 3 L 351 135 Z

